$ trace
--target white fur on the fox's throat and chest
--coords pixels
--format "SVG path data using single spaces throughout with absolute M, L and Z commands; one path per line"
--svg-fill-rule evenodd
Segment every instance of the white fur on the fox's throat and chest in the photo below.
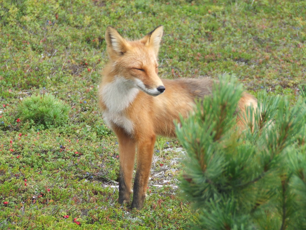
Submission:
M 125 115 L 124 110 L 133 102 L 138 92 L 132 82 L 118 76 L 103 86 L 100 94 L 107 108 L 103 112 L 103 118 L 109 126 L 114 123 L 128 133 L 133 132 L 133 123 Z

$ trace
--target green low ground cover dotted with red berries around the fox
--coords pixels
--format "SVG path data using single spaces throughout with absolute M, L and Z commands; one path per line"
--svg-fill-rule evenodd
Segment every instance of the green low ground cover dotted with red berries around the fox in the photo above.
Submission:
M 0 0 L 0 229 L 188 227 L 196 217 L 174 186 L 176 140 L 156 145 L 144 209 L 117 202 L 118 145 L 96 100 L 106 26 L 138 38 L 164 25 L 162 78 L 228 73 L 255 96 L 294 103 L 306 82 L 305 9 L 285 0 Z M 68 122 L 18 120 L 22 99 L 49 93 L 71 108 Z

